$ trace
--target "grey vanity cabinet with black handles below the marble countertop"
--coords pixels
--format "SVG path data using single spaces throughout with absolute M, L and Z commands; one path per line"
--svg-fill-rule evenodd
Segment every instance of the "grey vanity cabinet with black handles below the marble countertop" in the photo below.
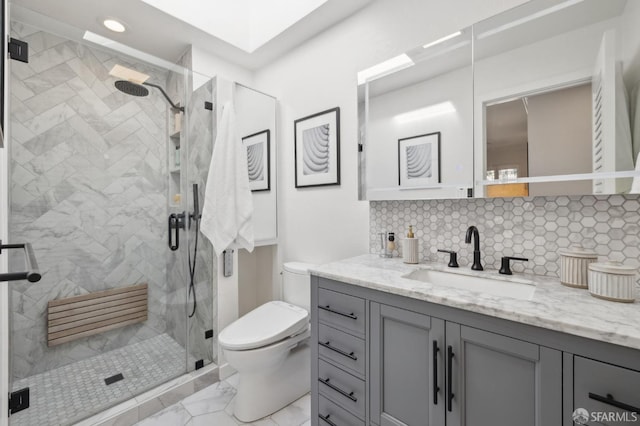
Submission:
M 313 426 L 640 424 L 640 351 L 312 277 Z

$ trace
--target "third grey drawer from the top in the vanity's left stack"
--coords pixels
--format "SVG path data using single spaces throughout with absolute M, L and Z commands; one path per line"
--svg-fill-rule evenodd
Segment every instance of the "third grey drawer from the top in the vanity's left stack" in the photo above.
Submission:
M 364 381 L 319 360 L 318 382 L 320 394 L 356 416 L 364 417 Z

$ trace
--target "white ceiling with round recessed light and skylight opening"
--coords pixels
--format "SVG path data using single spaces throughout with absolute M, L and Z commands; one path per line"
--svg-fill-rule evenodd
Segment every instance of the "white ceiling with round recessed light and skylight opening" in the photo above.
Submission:
M 183 5 L 185 4 L 183 3 L 184 1 L 171 0 L 170 3 Z M 193 1 L 197 2 L 197 0 Z M 226 2 L 237 5 L 239 0 L 199 1 L 207 4 Z M 196 28 L 142 0 L 12 0 L 11 4 L 30 9 L 46 17 L 69 24 L 79 30 L 88 30 L 108 37 L 171 62 L 176 61 L 189 45 L 195 45 L 224 60 L 255 70 L 276 60 L 304 41 L 342 21 L 373 0 L 327 0 L 319 6 L 317 4 L 321 3 L 321 0 L 308 0 L 308 2 L 305 0 L 306 6 L 299 7 L 296 10 L 300 15 L 310 13 L 293 24 L 290 24 L 292 21 L 291 11 L 286 8 L 286 3 L 290 1 L 296 2 L 297 0 L 270 0 L 273 5 L 270 13 L 266 13 L 267 8 L 264 7 L 266 1 L 260 0 L 256 2 L 260 3 L 261 7 L 254 8 L 254 12 L 257 14 L 254 17 L 251 17 L 250 11 L 247 10 L 248 16 L 246 20 L 239 19 L 242 10 L 238 8 L 232 7 L 230 9 L 227 7 L 214 11 L 209 7 L 207 10 L 202 10 L 201 16 L 212 17 L 210 20 L 211 29 L 208 31 Z M 315 9 L 313 8 L 314 5 L 316 5 Z M 19 10 L 19 7 L 13 8 L 12 17 L 20 19 Z M 195 13 L 197 13 L 197 9 Z M 288 18 L 283 18 L 284 15 Z M 118 34 L 107 30 L 102 25 L 102 21 L 107 17 L 123 22 L 127 27 L 127 31 Z M 269 19 L 271 21 L 265 25 L 261 24 L 260 28 L 255 24 L 260 20 Z M 227 35 L 219 34 L 218 37 L 209 33 L 214 32 L 214 27 L 219 27 L 220 22 L 223 21 L 231 24 L 227 25 L 230 28 L 229 31 L 244 29 L 244 36 L 233 39 L 229 38 L 228 32 Z M 278 30 L 276 23 L 280 24 L 281 28 L 284 27 L 286 29 L 284 31 Z M 288 24 L 290 25 L 287 27 Z M 203 27 L 206 25 L 206 19 L 198 21 L 198 26 Z M 247 25 L 252 26 L 252 28 L 247 29 Z M 242 31 L 236 32 L 238 34 L 242 33 Z M 247 36 L 247 34 L 249 35 Z M 260 37 L 264 39 L 270 36 L 273 37 L 260 44 Z M 225 37 L 227 41 L 223 39 Z M 243 39 L 244 44 L 238 42 L 239 39 Z M 241 45 L 242 48 L 235 46 L 228 40 Z M 252 49 L 251 53 L 247 51 Z

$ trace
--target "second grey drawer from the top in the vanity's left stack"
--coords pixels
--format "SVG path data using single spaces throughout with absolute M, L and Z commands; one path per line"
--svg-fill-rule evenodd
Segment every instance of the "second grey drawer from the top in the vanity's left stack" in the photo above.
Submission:
M 364 340 L 324 324 L 318 327 L 318 353 L 335 364 L 364 375 Z

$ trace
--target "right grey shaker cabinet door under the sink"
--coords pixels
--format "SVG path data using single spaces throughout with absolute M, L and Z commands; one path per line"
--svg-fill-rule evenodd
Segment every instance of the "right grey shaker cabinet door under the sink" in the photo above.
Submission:
M 449 322 L 446 338 L 447 426 L 562 424 L 560 351 Z

